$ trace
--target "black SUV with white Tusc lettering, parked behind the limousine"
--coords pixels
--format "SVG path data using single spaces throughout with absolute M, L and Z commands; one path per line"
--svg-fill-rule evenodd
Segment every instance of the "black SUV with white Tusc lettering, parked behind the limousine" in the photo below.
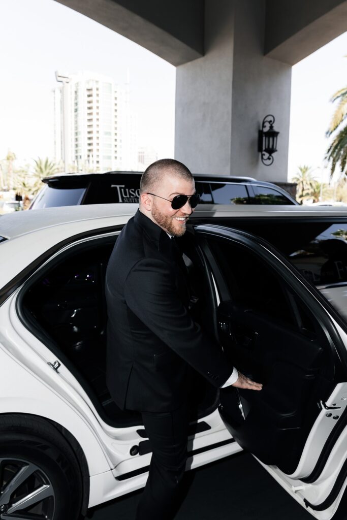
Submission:
M 138 203 L 142 172 L 60 174 L 43 178 L 45 187 L 30 209 L 112 202 Z M 194 175 L 205 204 L 298 204 L 289 193 L 272 183 L 252 177 Z

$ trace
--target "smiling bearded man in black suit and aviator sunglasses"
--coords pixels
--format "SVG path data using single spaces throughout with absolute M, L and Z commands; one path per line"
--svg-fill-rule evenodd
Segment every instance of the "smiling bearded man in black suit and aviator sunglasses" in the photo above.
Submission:
M 199 202 L 188 168 L 151 164 L 140 181 L 139 210 L 115 243 L 106 273 L 107 384 L 121 409 L 142 413 L 152 458 L 137 520 L 169 520 L 187 459 L 189 367 L 216 387 L 260 390 L 230 365 L 188 311 L 184 235 Z

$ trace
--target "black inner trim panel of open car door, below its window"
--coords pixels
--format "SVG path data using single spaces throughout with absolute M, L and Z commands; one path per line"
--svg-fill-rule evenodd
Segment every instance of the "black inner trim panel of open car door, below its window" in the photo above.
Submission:
M 327 386 L 322 375 L 323 348 L 286 325 L 273 323 L 249 309 L 224 303 L 219 313 L 220 321 L 228 320 L 230 330 L 235 330 L 233 339 L 228 333 L 221 333 L 225 352 L 242 373 L 264 385 L 261 392 L 224 389 L 222 415 L 226 422 L 227 416 L 233 418 L 229 430 L 243 448 L 265 464 L 292 473 L 309 427 L 307 418 L 312 425 L 319 413 L 315 404 L 322 387 Z M 247 331 L 247 336 L 240 334 L 240 329 Z M 242 344 L 242 339 L 252 336 L 255 341 L 247 346 Z M 237 420 L 230 411 L 231 393 L 237 394 L 234 399 L 238 399 L 238 410 L 242 407 L 244 419 L 239 413 Z M 231 408 L 235 408 L 234 403 Z M 287 444 L 291 445 L 290 450 Z

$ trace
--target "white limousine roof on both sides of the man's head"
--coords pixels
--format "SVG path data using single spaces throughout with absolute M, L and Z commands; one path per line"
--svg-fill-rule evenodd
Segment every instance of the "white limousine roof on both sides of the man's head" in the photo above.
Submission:
M 20 211 L 0 217 L 0 237 L 12 239 L 47 228 L 99 220 L 100 226 L 109 226 L 111 219 L 127 222 L 136 212 L 138 204 L 88 204 L 47 207 L 41 210 Z M 347 217 L 347 208 L 341 206 L 295 205 L 230 205 L 200 204 L 193 217 Z M 104 220 L 104 222 L 103 222 Z M 98 224 L 97 222 L 95 224 Z M 1 247 L 1 245 L 0 245 Z

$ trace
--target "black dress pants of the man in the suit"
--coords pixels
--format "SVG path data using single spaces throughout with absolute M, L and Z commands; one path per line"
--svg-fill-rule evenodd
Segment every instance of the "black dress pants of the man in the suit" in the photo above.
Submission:
M 187 405 L 173 412 L 141 413 L 152 458 L 136 520 L 170 520 L 179 499 L 187 460 Z

